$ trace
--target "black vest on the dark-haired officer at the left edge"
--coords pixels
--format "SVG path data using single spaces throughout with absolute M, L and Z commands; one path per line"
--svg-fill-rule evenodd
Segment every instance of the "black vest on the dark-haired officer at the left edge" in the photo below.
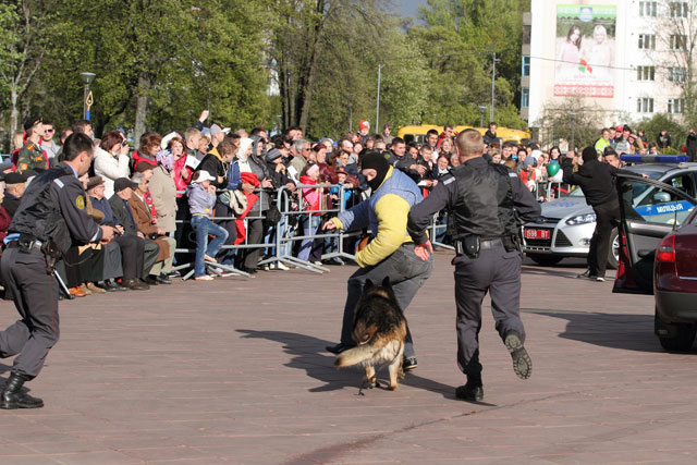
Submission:
M 65 175 L 74 174 L 69 166 L 59 164 L 34 178 L 12 218 L 8 230 L 10 234 L 20 233 L 41 242 L 51 240 L 63 254 L 68 252 L 72 244 L 70 230 L 61 215 L 58 199 L 50 192 L 51 183 Z

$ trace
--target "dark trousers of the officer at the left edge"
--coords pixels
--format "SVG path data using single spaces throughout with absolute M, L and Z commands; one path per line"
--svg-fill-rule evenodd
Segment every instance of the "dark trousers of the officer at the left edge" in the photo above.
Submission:
M 46 272 L 41 252 L 20 252 L 16 242 L 2 254 L 1 266 L 22 319 L 0 332 L 0 357 L 20 354 L 12 371 L 30 379 L 39 374 L 60 335 L 58 282 Z

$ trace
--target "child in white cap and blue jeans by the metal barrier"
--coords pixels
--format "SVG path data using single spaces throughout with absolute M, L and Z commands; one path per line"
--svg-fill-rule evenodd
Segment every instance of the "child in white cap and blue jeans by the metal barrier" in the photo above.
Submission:
M 206 273 L 206 261 L 216 262 L 213 258 L 228 238 L 228 231 L 210 221 L 216 205 L 216 186 L 210 182 L 216 179 L 206 170 L 194 173 L 192 184 L 186 187 L 188 208 L 192 213 L 192 228 L 196 231 L 196 261 L 194 274 L 196 281 L 211 281 Z M 215 236 L 208 244 L 208 235 Z

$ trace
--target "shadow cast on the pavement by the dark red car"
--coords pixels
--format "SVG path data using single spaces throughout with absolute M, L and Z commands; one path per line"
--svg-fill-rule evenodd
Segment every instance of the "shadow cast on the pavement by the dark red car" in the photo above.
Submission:
M 653 334 L 653 315 L 619 315 L 588 311 L 522 308 L 524 313 L 561 318 L 567 322 L 560 338 L 602 347 L 636 352 L 665 352 Z M 697 353 L 694 347 L 690 353 Z

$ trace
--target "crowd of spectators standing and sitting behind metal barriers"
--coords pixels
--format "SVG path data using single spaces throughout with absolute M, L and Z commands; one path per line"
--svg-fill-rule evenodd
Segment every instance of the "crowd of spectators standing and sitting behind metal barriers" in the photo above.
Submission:
M 93 169 L 82 179 L 87 193 L 84 208 L 99 224 L 115 227 L 118 236 L 106 246 L 71 248 L 59 266 L 71 296 L 171 284 L 173 277 L 181 276 L 175 265 L 192 264 L 197 281 L 234 270 L 250 277 L 259 270 L 286 270 L 289 265 L 280 261 L 259 266 L 276 254 L 279 235 L 284 237 L 283 253 L 302 262 L 343 265 L 335 256 L 322 259 L 338 249 L 337 237 L 317 235 L 327 210 L 350 208 L 369 195 L 360 173 L 367 152 L 383 154 L 425 195 L 460 164 L 452 125 L 441 133 L 429 131 L 420 143 L 407 143 L 392 135 L 389 123 L 380 133 L 371 133 L 369 123 L 362 121 L 357 133 L 348 132 L 337 142 L 310 142 L 299 127 L 269 137 L 260 127 L 249 132 L 219 124 L 205 127 L 207 118 L 203 112 L 184 132 L 146 133 L 137 150 L 132 150 L 119 131 L 95 139 Z M 620 129 L 602 131 L 596 144 L 601 155 L 651 154 L 670 147 L 667 134 L 659 135 L 660 144 L 646 144 L 641 132 Z M 59 137 L 52 124 L 37 118 L 27 120 L 24 130 L 15 142 L 21 148 L 0 166 L 4 187 L 0 191 L 0 238 L 25 185 L 60 162 L 65 137 L 85 133 L 94 138 L 85 120 L 61 130 Z M 575 167 L 583 162 L 574 150 L 562 155 L 559 147 L 542 150 L 535 142 L 502 143 L 496 123 L 484 140 L 485 158 L 515 171 L 539 201 L 563 195 L 568 187 L 561 184 L 559 166 L 564 158 Z M 279 189 L 284 196 L 278 195 Z M 439 222 L 444 222 L 443 215 Z M 438 240 L 447 237 L 439 234 Z M 347 237 L 344 249 L 352 253 L 356 242 Z M 234 247 L 241 244 L 244 246 Z

